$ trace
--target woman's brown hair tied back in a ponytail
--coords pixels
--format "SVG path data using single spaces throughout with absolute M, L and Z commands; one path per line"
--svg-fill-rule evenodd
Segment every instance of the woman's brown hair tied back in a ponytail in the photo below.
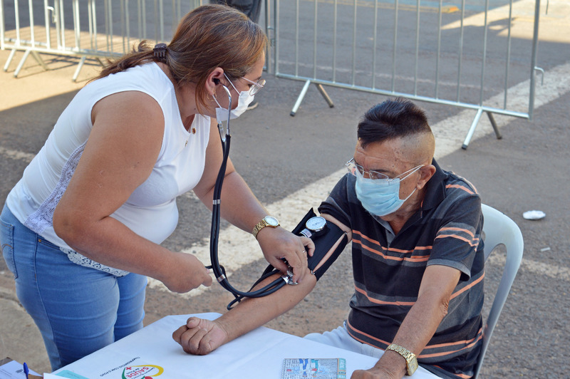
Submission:
M 95 78 L 148 62 L 163 62 L 178 85 L 195 83 L 198 110 L 206 104 L 204 83 L 214 68 L 221 67 L 230 79 L 249 73 L 266 48 L 267 38 L 261 27 L 242 12 L 229 6 L 199 6 L 178 24 L 165 58 L 154 56 L 147 41 L 103 68 Z M 200 88 L 200 89 L 198 89 Z

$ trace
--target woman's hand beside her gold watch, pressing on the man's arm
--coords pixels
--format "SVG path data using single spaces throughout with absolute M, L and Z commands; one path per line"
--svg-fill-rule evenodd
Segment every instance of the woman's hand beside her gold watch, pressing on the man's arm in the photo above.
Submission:
M 307 237 L 299 237 L 282 227 L 266 227 L 257 234 L 257 241 L 265 259 L 282 273 L 287 264 L 293 268 L 293 281 L 301 282 L 307 270 L 307 254 L 313 255 L 315 244 Z M 287 264 L 281 259 L 286 259 Z

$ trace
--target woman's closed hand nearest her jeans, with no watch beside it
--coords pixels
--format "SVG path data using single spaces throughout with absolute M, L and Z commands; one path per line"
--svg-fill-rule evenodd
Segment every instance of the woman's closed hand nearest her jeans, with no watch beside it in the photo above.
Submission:
M 209 275 L 208 269 L 192 254 L 173 253 L 175 260 L 166 270 L 162 279 L 162 283 L 172 292 L 183 294 L 200 286 L 212 285 L 212 276 Z

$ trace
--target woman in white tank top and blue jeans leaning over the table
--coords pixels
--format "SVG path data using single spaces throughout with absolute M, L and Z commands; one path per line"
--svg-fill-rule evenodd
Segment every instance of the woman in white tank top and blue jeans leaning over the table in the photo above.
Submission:
M 160 243 L 176 227 L 177 196 L 193 190 L 212 207 L 222 86 L 237 115 L 263 86 L 265 48 L 241 12 L 200 6 L 167 46 L 141 43 L 61 114 L 0 217 L 4 259 L 53 370 L 142 328 L 147 276 L 178 293 L 212 284 L 195 256 Z M 224 218 L 254 230 L 267 261 L 286 271 L 284 257 L 302 279 L 312 242 L 265 228 L 266 210 L 231 161 L 222 197 Z

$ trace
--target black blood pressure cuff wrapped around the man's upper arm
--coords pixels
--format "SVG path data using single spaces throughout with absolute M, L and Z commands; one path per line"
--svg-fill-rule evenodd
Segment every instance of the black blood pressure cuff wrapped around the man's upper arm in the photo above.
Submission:
M 316 214 L 311 208 L 309 212 L 307 212 L 305 217 L 301 219 L 301 222 L 299 222 L 299 224 L 297 224 L 295 229 L 293 229 L 292 231 L 293 234 L 302 235 L 301 231 L 305 229 L 305 223 L 307 222 L 307 220 L 315 216 Z M 333 264 L 334 261 L 336 261 L 336 259 L 338 258 L 338 256 L 341 254 L 346 244 L 348 243 L 348 237 L 346 236 L 346 232 L 344 232 L 341 228 L 336 226 L 336 224 L 334 224 L 333 222 L 327 220 L 326 229 L 327 229 L 326 232 L 324 232 L 320 236 L 311 237 L 311 239 L 315 244 L 315 251 L 313 253 L 313 256 L 307 256 L 307 259 L 309 261 L 309 269 L 311 270 L 311 274 L 316 276 L 317 281 L 318 279 L 321 279 L 321 276 L 323 276 L 328 267 L 330 267 L 331 264 Z M 329 256 L 328 259 L 315 271 L 315 267 L 319 264 L 319 262 L 321 262 L 324 256 L 326 256 L 328 251 L 332 249 L 334 244 L 336 244 L 336 242 L 338 242 L 339 239 L 341 239 L 341 242 L 338 244 L 338 246 L 336 246 L 336 249 L 334 249 L 331 256 Z M 274 267 L 269 265 L 269 267 L 265 269 L 264 275 L 269 273 L 273 269 Z

